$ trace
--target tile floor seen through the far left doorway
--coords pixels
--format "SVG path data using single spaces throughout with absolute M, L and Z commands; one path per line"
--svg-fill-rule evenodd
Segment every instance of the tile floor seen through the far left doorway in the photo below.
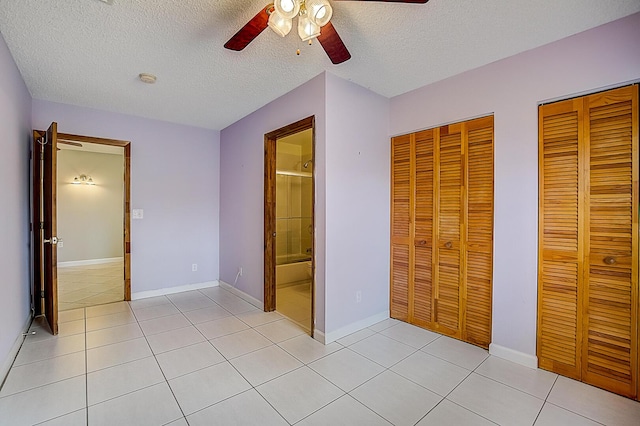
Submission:
M 124 300 L 124 263 L 58 266 L 58 309 L 87 306 Z

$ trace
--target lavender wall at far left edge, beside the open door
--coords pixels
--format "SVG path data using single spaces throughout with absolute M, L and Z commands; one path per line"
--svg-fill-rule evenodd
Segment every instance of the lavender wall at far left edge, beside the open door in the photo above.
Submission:
M 30 315 L 31 95 L 0 36 L 0 381 Z

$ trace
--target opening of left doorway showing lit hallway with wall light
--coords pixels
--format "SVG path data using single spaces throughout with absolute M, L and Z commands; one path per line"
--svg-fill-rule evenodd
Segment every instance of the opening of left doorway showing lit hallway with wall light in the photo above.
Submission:
M 58 141 L 58 310 L 124 294 L 124 147 Z

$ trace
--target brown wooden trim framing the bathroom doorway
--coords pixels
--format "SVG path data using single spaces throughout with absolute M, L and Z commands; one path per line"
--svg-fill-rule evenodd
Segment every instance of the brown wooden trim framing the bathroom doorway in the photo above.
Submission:
M 303 118 L 287 126 L 273 130 L 264 135 L 264 311 L 271 312 L 276 309 L 276 141 L 286 136 L 311 129 L 311 144 L 315 158 L 315 116 Z M 313 193 L 311 202 L 313 204 L 313 217 L 311 224 L 315 230 L 315 162 L 312 163 L 314 173 L 312 173 Z M 311 280 L 311 336 L 315 328 L 315 232 L 312 241 L 311 270 L 313 279 Z

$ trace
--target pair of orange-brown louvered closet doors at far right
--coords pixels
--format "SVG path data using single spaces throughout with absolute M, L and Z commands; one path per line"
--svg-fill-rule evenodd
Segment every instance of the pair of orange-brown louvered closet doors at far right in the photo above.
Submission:
M 638 393 L 638 87 L 540 107 L 540 367 Z

